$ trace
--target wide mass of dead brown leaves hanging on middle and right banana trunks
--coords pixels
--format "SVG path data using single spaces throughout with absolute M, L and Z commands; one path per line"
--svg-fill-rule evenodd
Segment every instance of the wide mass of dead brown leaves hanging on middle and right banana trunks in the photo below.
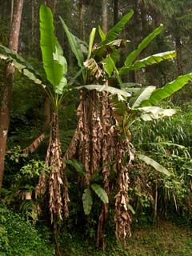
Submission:
M 110 200 L 112 189 L 118 191 L 115 197 L 115 225 L 118 239 L 130 236 L 130 214 L 128 205 L 128 170 L 132 154 L 129 140 L 122 138 L 118 129 L 118 121 L 112 116 L 110 95 L 96 90 L 82 90 L 81 102 L 78 106 L 78 126 L 74 138 L 64 156 L 64 160 L 78 155 L 86 170 L 84 185 L 89 188 L 90 178 L 102 169 L 103 187 Z M 125 158 L 129 158 L 128 162 Z M 116 179 L 111 180 L 111 171 L 116 173 Z M 98 217 L 96 244 L 106 247 L 105 226 L 108 217 L 109 204 L 103 204 Z

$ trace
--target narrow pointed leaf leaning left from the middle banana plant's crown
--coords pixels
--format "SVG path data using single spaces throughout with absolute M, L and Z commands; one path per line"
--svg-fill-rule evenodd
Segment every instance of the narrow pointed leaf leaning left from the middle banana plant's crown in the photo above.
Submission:
M 81 46 L 80 43 L 78 41 L 78 38 L 76 38 L 74 36 L 74 34 L 72 34 L 68 28 L 68 26 L 66 26 L 66 23 L 63 21 L 63 19 L 61 17 L 59 17 L 61 22 L 62 22 L 62 27 L 66 32 L 66 36 L 68 38 L 68 41 L 70 42 L 70 48 L 74 53 L 75 58 L 78 61 L 78 66 L 80 66 L 82 68 L 83 66 L 83 62 L 84 62 L 84 57 L 82 54 L 82 50 L 81 50 Z

